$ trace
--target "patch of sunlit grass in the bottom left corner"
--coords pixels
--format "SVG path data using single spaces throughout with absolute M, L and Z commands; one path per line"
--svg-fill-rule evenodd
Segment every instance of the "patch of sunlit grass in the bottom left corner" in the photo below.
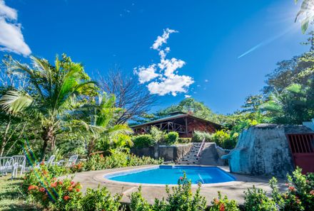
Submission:
M 21 193 L 23 180 L 10 178 L 11 175 L 0 177 L 0 210 L 41 210 L 36 205 L 26 202 L 25 196 Z

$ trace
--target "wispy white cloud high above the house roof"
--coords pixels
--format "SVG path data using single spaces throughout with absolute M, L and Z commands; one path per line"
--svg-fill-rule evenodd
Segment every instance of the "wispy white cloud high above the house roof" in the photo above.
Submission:
M 147 87 L 151 94 L 176 96 L 178 93 L 186 93 L 188 87 L 193 84 L 193 78 L 188 75 L 178 75 L 178 69 L 186 65 L 186 62 L 177 58 L 166 58 L 170 52 L 169 47 L 163 47 L 171 33 L 178 31 L 167 28 L 162 36 L 158 36 L 151 48 L 158 51 L 159 63 L 153 63 L 148 67 L 136 67 L 134 73 L 138 75 L 141 83 L 149 82 Z

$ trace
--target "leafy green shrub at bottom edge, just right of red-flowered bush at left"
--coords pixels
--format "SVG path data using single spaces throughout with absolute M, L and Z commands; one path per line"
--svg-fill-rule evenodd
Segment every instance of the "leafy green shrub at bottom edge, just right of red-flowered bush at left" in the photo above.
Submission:
M 81 200 L 81 207 L 85 211 L 118 211 L 121 206 L 119 202 L 121 197 L 122 195 L 120 194 L 111 196 L 111 193 L 106 187 L 99 188 L 98 186 L 96 190 L 88 188 Z

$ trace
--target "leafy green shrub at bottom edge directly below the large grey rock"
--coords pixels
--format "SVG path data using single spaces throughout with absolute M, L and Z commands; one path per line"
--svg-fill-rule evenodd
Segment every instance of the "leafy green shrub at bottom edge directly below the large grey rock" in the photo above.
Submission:
M 250 211 L 278 211 L 274 200 L 267 197 L 261 188 L 248 188 L 244 198 L 245 210 Z

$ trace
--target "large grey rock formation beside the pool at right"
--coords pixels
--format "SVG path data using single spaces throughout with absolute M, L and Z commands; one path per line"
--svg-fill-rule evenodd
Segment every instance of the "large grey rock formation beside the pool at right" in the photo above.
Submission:
M 284 177 L 293 171 L 293 158 L 286 134 L 313 133 L 305 126 L 258 124 L 240 134 L 228 159 L 231 172 Z

